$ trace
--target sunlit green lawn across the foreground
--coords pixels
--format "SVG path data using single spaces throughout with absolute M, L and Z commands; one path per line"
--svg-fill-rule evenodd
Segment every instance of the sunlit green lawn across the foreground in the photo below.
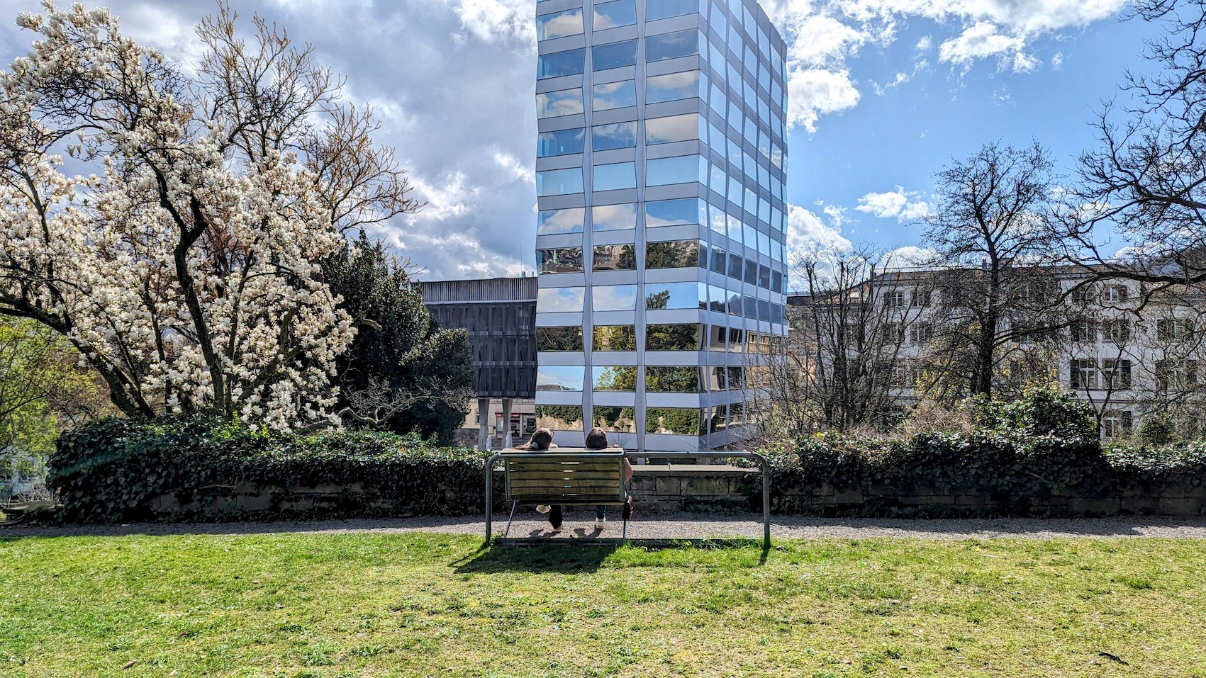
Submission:
M 0 676 L 1206 676 L 1206 542 L 0 540 Z

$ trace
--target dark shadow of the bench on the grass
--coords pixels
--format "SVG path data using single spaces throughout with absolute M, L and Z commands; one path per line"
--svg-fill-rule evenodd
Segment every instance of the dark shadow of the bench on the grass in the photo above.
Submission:
M 557 572 L 563 574 L 595 572 L 604 560 L 617 549 L 628 546 L 645 550 L 663 549 L 744 549 L 759 547 L 761 556 L 757 565 L 766 564 L 768 549 L 761 548 L 759 540 L 630 540 L 627 544 L 616 540 L 614 543 L 575 543 L 569 540 L 538 540 L 522 542 L 492 541 L 482 544 L 476 552 L 451 562 L 453 572 L 497 573 L 497 572 Z

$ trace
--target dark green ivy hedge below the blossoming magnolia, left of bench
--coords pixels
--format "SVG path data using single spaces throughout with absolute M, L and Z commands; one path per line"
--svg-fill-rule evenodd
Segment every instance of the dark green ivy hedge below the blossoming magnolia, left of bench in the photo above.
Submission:
M 318 485 L 346 495 L 328 515 L 456 514 L 481 511 L 482 455 L 414 434 L 269 435 L 201 414 L 103 419 L 63 434 L 48 482 L 74 520 L 154 518 L 160 495 L 188 505 L 240 483 L 283 488 L 269 509 L 281 514 L 288 488 Z

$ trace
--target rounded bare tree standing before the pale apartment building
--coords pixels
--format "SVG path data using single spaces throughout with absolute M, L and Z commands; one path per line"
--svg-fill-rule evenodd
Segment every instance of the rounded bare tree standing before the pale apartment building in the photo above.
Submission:
M 1048 263 L 1054 188 L 1047 151 L 987 143 L 936 175 L 925 243 L 937 252 L 930 276 L 939 312 L 930 382 L 950 397 L 991 396 L 1003 367 L 1064 318 Z M 941 261 L 941 264 L 939 264 Z

